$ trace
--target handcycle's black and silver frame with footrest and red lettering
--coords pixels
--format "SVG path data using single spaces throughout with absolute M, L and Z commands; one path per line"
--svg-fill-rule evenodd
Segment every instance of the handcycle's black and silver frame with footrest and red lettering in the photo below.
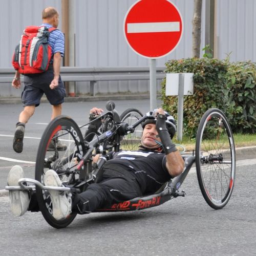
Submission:
M 112 113 L 106 113 L 100 118 L 103 118 L 106 115 L 112 115 Z M 126 126 L 126 132 L 133 132 L 135 127 L 138 126 L 141 122 L 143 122 L 147 116 L 142 117 L 140 120 L 138 120 L 136 123 L 134 123 L 132 126 Z M 153 118 L 153 117 L 152 117 Z M 79 180 L 80 181 L 94 181 L 97 182 L 101 175 L 101 170 L 102 166 L 106 162 L 106 158 L 104 155 L 102 155 L 99 159 L 99 162 L 97 163 L 97 167 L 91 172 L 91 176 L 86 179 L 86 174 L 87 174 L 87 168 L 91 168 L 91 155 L 92 152 L 94 151 L 95 147 L 97 145 L 100 145 L 102 142 L 108 141 L 111 137 L 115 136 L 115 134 L 118 132 L 120 129 L 122 123 L 117 122 L 109 129 L 108 131 L 105 131 L 101 135 L 99 135 L 97 138 L 93 139 L 90 142 L 86 142 L 86 148 L 87 151 L 83 156 L 79 156 L 80 161 L 77 164 L 77 170 L 80 170 L 80 175 L 79 175 Z M 119 142 L 117 142 L 119 143 Z M 69 157 L 68 157 L 69 158 Z M 181 184 L 183 183 L 185 177 L 187 176 L 190 167 L 193 165 L 195 162 L 195 157 L 194 156 L 183 156 L 184 161 L 185 161 L 185 167 L 184 171 L 176 177 L 173 181 L 170 180 L 167 182 L 167 184 L 161 189 L 160 191 L 156 194 L 153 195 L 146 195 L 143 197 L 138 197 L 134 198 L 132 200 L 124 201 L 121 203 L 116 203 L 113 204 L 110 208 L 104 208 L 104 209 L 98 209 L 96 211 L 124 211 L 124 210 L 139 210 L 139 209 L 145 209 L 145 208 L 150 208 L 154 207 L 160 204 L 163 204 L 164 202 L 176 198 L 178 196 L 185 196 L 184 191 L 181 193 L 179 192 L 179 188 Z M 65 161 L 65 160 L 63 160 Z M 85 168 L 81 168 L 84 165 L 89 165 L 86 166 Z M 42 190 L 48 190 L 48 189 L 53 189 L 53 190 L 60 190 L 60 191 L 69 191 L 69 187 L 48 187 L 42 185 L 39 181 L 30 179 L 30 178 L 23 178 L 18 181 L 19 186 L 6 186 L 7 190 L 35 190 L 36 186 L 38 186 Z M 28 184 L 33 184 L 33 185 L 28 185 Z M 79 185 L 78 185 L 79 187 Z

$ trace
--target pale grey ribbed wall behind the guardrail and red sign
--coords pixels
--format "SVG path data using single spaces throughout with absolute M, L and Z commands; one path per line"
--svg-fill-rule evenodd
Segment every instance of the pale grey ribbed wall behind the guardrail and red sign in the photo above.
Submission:
M 80 67 L 148 66 L 146 58 L 138 56 L 126 44 L 123 36 L 123 19 L 135 0 L 73 0 L 75 65 Z M 169 59 L 191 56 L 192 19 L 194 0 L 175 0 L 183 16 L 183 37 L 175 51 L 157 59 L 164 66 Z M 223 59 L 230 54 L 231 61 L 256 62 L 256 3 L 255 0 L 216 0 L 217 3 L 217 53 Z M 40 25 L 41 11 L 54 6 L 61 13 L 61 0 L 0 0 L 0 68 L 11 67 L 11 56 L 23 29 Z M 202 11 L 202 44 L 204 44 L 205 1 Z M 61 29 L 61 15 L 60 15 Z M 203 52 L 202 52 L 203 54 Z M 86 84 L 86 86 L 84 86 Z M 77 93 L 88 93 L 88 83 L 77 83 Z M 159 88 L 159 85 L 158 85 Z M 99 82 L 100 93 L 148 91 L 147 81 Z M 10 85 L 0 87 L 0 96 L 20 95 Z

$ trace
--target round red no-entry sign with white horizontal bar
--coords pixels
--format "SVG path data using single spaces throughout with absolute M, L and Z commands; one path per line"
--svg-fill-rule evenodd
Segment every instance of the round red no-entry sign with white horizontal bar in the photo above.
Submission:
M 139 0 L 127 11 L 123 30 L 139 55 L 160 58 L 172 52 L 182 36 L 182 17 L 168 0 Z

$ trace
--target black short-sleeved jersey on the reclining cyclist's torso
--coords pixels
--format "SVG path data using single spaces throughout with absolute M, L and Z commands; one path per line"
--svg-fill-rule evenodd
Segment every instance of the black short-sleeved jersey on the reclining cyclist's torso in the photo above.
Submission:
M 151 151 L 120 151 L 104 164 L 104 169 L 123 169 L 133 174 L 143 194 L 154 193 L 171 177 L 165 154 Z

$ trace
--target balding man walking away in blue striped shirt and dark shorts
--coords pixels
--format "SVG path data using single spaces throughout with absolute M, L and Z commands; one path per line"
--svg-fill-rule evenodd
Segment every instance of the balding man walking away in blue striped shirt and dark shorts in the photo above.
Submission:
M 57 28 L 59 24 L 59 13 L 54 7 L 47 7 L 42 11 L 42 25 L 48 29 Z M 13 139 L 13 150 L 17 153 L 23 151 L 23 138 L 25 124 L 35 112 L 35 107 L 40 104 L 42 95 L 46 95 L 52 105 L 51 120 L 61 115 L 62 103 L 66 95 L 65 87 L 60 78 L 61 59 L 65 50 L 65 38 L 60 30 L 53 30 L 49 35 L 49 45 L 52 49 L 50 65 L 47 71 L 38 74 L 26 74 L 24 76 L 24 90 L 22 92 L 22 102 L 24 110 L 19 114 L 16 123 L 16 131 Z M 12 86 L 20 88 L 20 73 L 16 71 Z M 65 150 L 66 146 L 60 141 L 52 141 L 48 150 Z

